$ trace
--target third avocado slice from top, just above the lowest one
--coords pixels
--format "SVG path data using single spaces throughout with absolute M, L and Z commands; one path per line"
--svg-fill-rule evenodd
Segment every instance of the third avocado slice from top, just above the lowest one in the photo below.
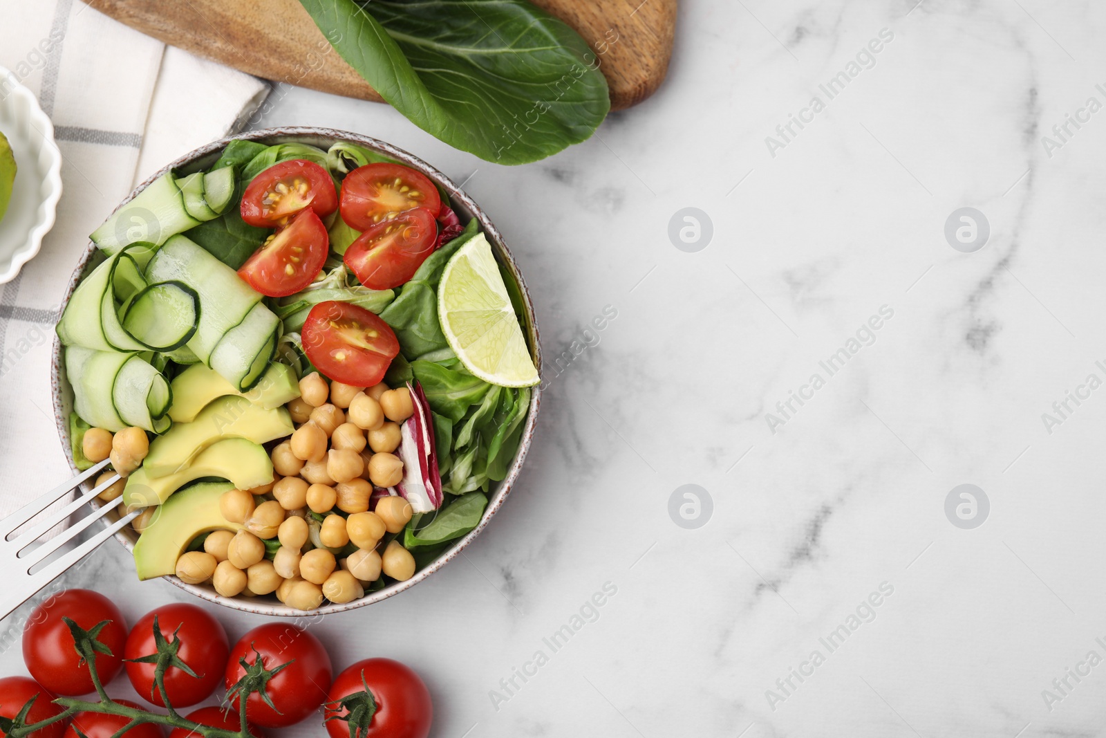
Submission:
M 244 438 L 226 438 L 205 448 L 180 471 L 154 477 L 146 467 L 139 467 L 127 477 L 123 503 L 127 508 L 163 505 L 188 482 L 205 477 L 220 477 L 239 489 L 253 489 L 272 481 L 273 462 L 259 444 Z

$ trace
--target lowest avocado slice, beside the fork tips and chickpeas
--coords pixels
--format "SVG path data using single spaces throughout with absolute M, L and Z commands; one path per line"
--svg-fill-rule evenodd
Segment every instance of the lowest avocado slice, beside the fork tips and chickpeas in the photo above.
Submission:
M 220 529 L 241 530 L 241 523 L 228 522 L 219 512 L 219 498 L 233 488 L 229 481 L 198 482 L 166 500 L 135 543 L 138 579 L 173 574 L 177 559 L 197 536 Z

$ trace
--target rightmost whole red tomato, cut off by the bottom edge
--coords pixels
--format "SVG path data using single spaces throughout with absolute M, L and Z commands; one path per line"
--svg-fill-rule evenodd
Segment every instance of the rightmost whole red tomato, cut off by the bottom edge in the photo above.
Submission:
M 349 715 L 341 700 L 365 690 L 373 696 L 376 710 L 365 726 L 351 734 L 347 720 L 330 719 Z M 326 698 L 326 732 L 331 738 L 426 738 L 434 723 L 430 692 L 410 667 L 390 658 L 366 658 L 338 674 Z

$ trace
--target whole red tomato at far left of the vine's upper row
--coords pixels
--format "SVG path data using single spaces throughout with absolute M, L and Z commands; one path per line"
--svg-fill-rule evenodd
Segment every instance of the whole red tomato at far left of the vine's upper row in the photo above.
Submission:
M 31 676 L 56 695 L 75 697 L 94 690 L 88 665 L 73 644 L 73 635 L 62 620 L 69 617 L 85 631 L 111 621 L 97 640 L 111 654 L 96 654 L 96 674 L 106 685 L 123 668 L 123 646 L 127 624 L 111 600 L 92 590 L 66 590 L 34 609 L 23 627 L 23 662 Z

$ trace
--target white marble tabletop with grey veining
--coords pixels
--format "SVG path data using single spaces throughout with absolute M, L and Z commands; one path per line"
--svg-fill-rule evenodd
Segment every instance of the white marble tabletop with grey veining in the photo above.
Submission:
M 274 93 L 260 126 L 466 181 L 550 360 L 504 509 L 313 624 L 340 666 L 411 664 L 445 738 L 1106 732 L 1106 6 L 915 1 L 685 3 L 655 97 L 518 168 Z M 709 243 L 670 240 L 682 208 Z M 982 248 L 979 216 L 947 240 L 961 208 Z M 66 583 L 132 619 L 184 597 L 129 568 Z

